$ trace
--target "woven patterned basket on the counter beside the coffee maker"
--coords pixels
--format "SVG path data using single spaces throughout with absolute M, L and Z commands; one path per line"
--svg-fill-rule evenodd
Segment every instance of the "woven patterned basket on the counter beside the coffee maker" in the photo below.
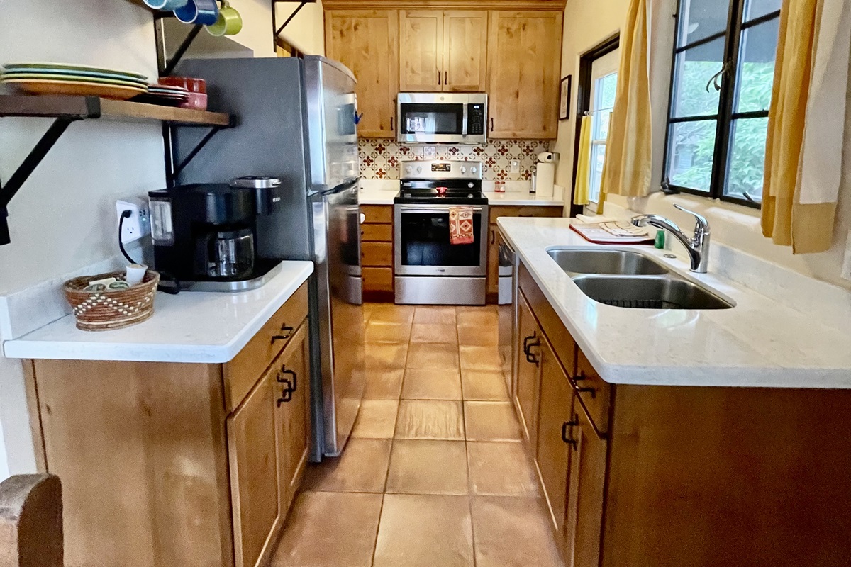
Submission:
M 135 325 L 154 314 L 154 296 L 157 294 L 159 274 L 149 269 L 142 283 L 127 289 L 103 292 L 83 292 L 89 281 L 113 277 L 124 281 L 124 272 L 83 275 L 65 282 L 65 298 L 74 309 L 77 329 L 83 331 L 110 331 Z

